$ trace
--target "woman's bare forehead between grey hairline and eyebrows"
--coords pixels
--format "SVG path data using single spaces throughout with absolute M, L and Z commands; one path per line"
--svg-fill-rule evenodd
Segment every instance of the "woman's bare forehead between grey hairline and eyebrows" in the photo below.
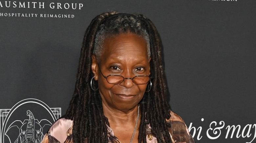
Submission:
M 132 33 L 124 33 L 106 38 L 103 42 L 100 59 L 112 56 L 139 56 L 147 57 L 147 42 L 141 36 Z

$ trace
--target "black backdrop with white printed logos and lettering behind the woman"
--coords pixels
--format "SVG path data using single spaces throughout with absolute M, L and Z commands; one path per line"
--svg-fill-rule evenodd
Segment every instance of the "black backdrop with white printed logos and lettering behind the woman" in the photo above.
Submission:
M 144 14 L 163 45 L 168 100 L 196 143 L 256 143 L 255 0 L 0 0 L 0 143 L 40 142 L 72 98 L 91 20 Z

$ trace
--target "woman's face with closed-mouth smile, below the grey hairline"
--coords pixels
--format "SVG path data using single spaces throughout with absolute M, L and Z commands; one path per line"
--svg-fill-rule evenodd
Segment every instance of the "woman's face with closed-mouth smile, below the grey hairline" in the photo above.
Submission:
M 122 75 L 124 78 L 149 75 L 150 59 L 147 56 L 147 43 L 135 34 L 118 34 L 104 40 L 103 50 L 97 59 L 98 64 L 95 56 L 92 57 L 92 70 L 96 76 L 95 80 L 98 80 L 102 103 L 108 108 L 127 112 L 137 106 L 147 84 L 137 85 L 131 79 L 125 79 L 120 84 L 110 84 L 102 74 Z

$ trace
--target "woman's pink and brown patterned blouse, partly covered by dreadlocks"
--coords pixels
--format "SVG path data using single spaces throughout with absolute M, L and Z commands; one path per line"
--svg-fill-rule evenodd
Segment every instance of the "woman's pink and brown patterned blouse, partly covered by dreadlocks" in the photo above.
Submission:
M 181 119 L 179 115 L 176 113 L 170 111 L 171 118 L 166 120 L 166 122 L 172 124 L 172 129 L 168 129 L 170 133 L 170 137 L 172 140 L 172 143 L 195 143 L 194 139 L 188 132 L 188 129 L 184 123 L 184 121 Z M 185 131 L 181 131 L 179 128 L 175 128 L 175 124 L 179 124 L 182 126 L 184 125 Z M 109 143 L 120 143 L 118 138 L 114 135 L 113 130 L 108 127 L 108 138 Z M 51 128 L 49 129 L 48 133 L 44 135 L 44 138 L 42 140 L 42 143 L 73 143 L 73 135 L 72 135 L 72 129 L 73 129 L 73 121 L 65 118 L 58 119 L 53 123 Z M 183 137 L 175 135 L 175 133 L 186 134 L 189 136 L 189 141 L 185 140 L 178 140 L 182 139 Z M 146 140 L 147 143 L 157 143 L 157 138 L 154 137 L 151 134 L 151 127 L 150 125 L 146 125 Z

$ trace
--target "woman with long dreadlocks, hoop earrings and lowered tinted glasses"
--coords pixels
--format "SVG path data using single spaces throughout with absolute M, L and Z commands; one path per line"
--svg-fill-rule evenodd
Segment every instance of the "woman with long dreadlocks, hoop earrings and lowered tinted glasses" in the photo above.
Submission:
M 194 143 L 166 101 L 160 41 L 143 15 L 96 16 L 85 32 L 65 118 L 43 142 Z

